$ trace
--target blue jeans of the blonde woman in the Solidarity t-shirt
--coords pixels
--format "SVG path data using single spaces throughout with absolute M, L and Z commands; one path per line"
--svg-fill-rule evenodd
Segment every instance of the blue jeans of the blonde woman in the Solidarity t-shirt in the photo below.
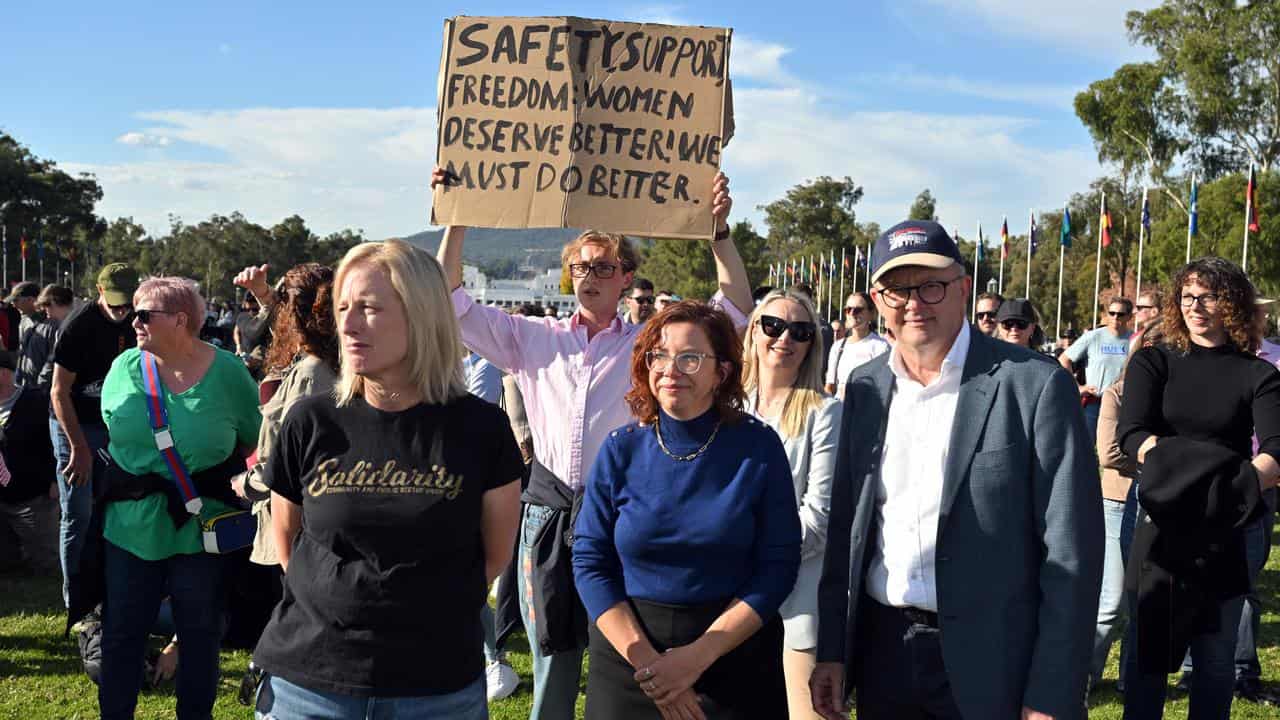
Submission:
M 458 692 L 419 697 L 361 697 L 312 691 L 268 676 L 257 692 L 257 720 L 488 720 L 484 675 Z

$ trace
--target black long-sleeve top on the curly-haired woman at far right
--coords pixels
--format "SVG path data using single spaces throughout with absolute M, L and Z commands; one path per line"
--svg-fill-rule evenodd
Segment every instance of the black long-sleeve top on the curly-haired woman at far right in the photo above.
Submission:
M 1148 437 L 1221 445 L 1242 457 L 1253 450 L 1280 460 L 1280 372 L 1231 346 L 1139 350 L 1125 370 L 1116 437 L 1137 460 Z

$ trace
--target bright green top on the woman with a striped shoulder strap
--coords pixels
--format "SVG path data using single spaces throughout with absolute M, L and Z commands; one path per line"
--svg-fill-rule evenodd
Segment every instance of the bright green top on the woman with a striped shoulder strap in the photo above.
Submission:
M 136 347 L 122 352 L 102 380 L 102 420 L 111 437 L 108 448 L 116 465 L 128 473 L 155 473 L 172 479 L 151 432 L 140 355 Z M 237 447 L 257 443 L 262 421 L 257 386 L 244 363 L 230 352 L 216 350 L 209 372 L 186 392 L 174 395 L 164 388 L 164 404 L 173 443 L 188 473 L 212 468 Z M 224 503 L 205 500 L 206 516 L 225 510 Z M 200 523 L 192 518 L 180 529 L 175 528 L 165 510 L 165 496 L 159 493 L 108 505 L 102 536 L 142 560 L 204 552 Z

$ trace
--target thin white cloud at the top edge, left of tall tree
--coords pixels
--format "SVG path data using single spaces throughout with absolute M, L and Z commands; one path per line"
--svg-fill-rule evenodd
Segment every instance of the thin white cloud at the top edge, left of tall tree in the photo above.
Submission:
M 1125 36 L 1129 10 L 1146 10 L 1161 0 L 916 0 L 954 15 L 975 18 L 988 31 L 1028 36 L 1091 56 L 1146 58 Z

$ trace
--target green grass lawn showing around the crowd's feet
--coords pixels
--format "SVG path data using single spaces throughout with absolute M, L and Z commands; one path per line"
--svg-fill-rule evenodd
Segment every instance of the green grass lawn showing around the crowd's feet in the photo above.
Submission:
M 60 578 L 0 577 L 0 720 L 88 720 L 97 717 L 97 688 L 81 670 L 76 641 L 63 639 Z M 1280 552 L 1262 575 L 1262 594 L 1267 612 L 1262 619 L 1262 674 L 1268 689 L 1280 691 Z M 1107 680 L 1091 698 L 1089 717 L 1119 720 L 1120 698 L 1115 693 L 1119 643 L 1112 648 Z M 511 660 L 521 675 L 520 689 L 512 697 L 490 705 L 495 720 L 524 720 L 531 705 L 529 648 L 516 638 Z M 248 664 L 248 653 L 223 653 L 223 680 L 214 717 L 252 717 L 250 710 L 236 701 L 239 678 Z M 584 684 L 585 689 L 585 684 Z M 579 696 L 581 717 L 582 697 Z M 145 691 L 138 700 L 138 717 L 173 717 L 172 683 L 168 688 Z M 1165 714 L 1169 719 L 1187 716 L 1184 694 L 1170 693 Z M 1280 708 L 1236 701 L 1234 719 L 1276 719 Z

